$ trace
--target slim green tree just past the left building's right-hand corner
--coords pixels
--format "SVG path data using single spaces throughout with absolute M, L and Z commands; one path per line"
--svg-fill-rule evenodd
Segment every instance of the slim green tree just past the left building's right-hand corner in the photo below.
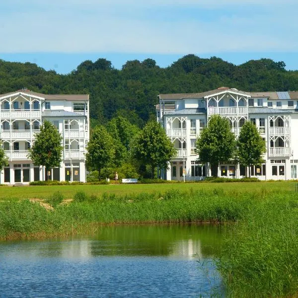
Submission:
M 112 162 L 114 155 L 113 138 L 104 126 L 95 127 L 87 145 L 86 162 L 98 171 L 98 180 L 101 169 Z

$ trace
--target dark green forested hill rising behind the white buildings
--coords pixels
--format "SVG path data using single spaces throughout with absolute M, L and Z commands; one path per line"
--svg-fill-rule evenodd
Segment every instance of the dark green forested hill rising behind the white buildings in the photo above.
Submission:
M 298 71 L 284 62 L 252 60 L 239 66 L 220 58 L 187 55 L 170 67 L 152 59 L 128 61 L 121 70 L 106 59 L 84 61 L 67 75 L 45 71 L 36 64 L 0 60 L 0 93 L 22 87 L 42 93 L 88 93 L 90 115 L 105 123 L 115 115 L 142 126 L 154 114 L 159 93 L 202 92 L 228 86 L 244 91 L 298 90 Z

